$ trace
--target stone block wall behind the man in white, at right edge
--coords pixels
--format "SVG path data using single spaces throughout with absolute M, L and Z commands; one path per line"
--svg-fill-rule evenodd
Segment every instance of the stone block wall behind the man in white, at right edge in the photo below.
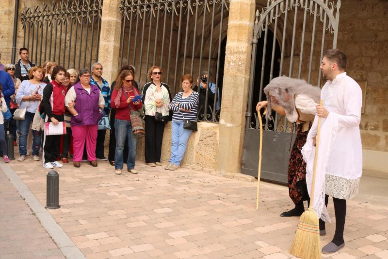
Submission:
M 348 56 L 348 74 L 367 81 L 361 116 L 363 149 L 388 152 L 388 1 L 341 1 L 338 48 Z

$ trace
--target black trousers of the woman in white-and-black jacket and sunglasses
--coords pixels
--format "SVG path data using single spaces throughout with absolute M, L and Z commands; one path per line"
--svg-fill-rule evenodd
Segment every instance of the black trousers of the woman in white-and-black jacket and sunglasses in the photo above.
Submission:
M 164 123 L 155 121 L 155 116 L 145 116 L 146 163 L 161 161 Z

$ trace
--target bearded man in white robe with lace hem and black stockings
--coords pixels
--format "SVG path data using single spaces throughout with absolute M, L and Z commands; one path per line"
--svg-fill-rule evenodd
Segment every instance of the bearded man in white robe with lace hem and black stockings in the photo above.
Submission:
M 333 240 L 323 247 L 324 254 L 335 253 L 345 245 L 343 231 L 346 200 L 358 194 L 362 173 L 359 130 L 362 93 L 356 81 L 346 75 L 346 62 L 346 55 L 340 50 L 328 50 L 324 53 L 320 67 L 323 79 L 327 80 L 321 91 L 323 105 L 317 105 L 314 123 L 302 149 L 307 163 L 306 180 L 311 197 L 313 146 L 318 130 L 318 116 L 322 117 L 313 207 L 321 217 L 321 231 L 325 229 L 324 221 L 330 221 L 324 207 L 324 204 L 327 206 L 329 195 L 333 197 L 336 216 L 336 232 Z

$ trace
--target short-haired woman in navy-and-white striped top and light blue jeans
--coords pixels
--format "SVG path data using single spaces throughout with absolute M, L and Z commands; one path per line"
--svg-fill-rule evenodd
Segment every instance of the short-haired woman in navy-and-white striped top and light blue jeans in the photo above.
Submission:
M 182 76 L 182 89 L 175 95 L 170 104 L 170 110 L 174 111 L 171 130 L 171 157 L 167 170 L 177 170 L 180 161 L 185 155 L 187 141 L 192 133 L 183 128 L 183 120 L 196 121 L 198 112 L 199 94 L 191 88 L 193 77 L 189 74 Z

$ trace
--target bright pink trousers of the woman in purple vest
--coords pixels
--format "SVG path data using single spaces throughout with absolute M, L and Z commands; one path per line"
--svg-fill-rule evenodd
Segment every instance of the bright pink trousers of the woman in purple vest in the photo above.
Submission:
M 71 126 L 73 135 L 73 161 L 81 162 L 83 147 L 86 139 L 86 153 L 88 161 L 97 160 L 96 143 L 97 143 L 97 125 Z

